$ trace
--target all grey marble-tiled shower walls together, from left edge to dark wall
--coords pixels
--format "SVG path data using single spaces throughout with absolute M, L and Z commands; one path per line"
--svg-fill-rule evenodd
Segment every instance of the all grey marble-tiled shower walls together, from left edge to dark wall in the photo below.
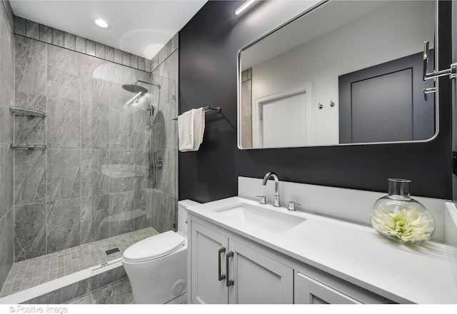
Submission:
M 12 263 L 146 228 L 173 230 L 177 36 L 150 61 L 13 17 L 2 3 L 0 285 Z M 121 86 L 138 80 L 154 84 L 140 83 L 149 93 L 126 106 L 135 94 Z M 46 116 L 13 115 L 11 106 Z

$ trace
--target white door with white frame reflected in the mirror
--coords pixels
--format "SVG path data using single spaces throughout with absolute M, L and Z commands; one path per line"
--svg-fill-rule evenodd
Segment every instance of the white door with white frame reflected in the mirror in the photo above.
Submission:
M 256 99 L 253 147 L 288 147 L 313 144 L 311 82 Z

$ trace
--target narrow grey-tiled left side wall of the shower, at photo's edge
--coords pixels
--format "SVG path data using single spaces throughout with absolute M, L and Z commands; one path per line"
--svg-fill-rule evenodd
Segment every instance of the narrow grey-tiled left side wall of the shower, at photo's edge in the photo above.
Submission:
M 12 117 L 14 104 L 14 21 L 9 2 L 0 4 L 0 287 L 14 261 Z

